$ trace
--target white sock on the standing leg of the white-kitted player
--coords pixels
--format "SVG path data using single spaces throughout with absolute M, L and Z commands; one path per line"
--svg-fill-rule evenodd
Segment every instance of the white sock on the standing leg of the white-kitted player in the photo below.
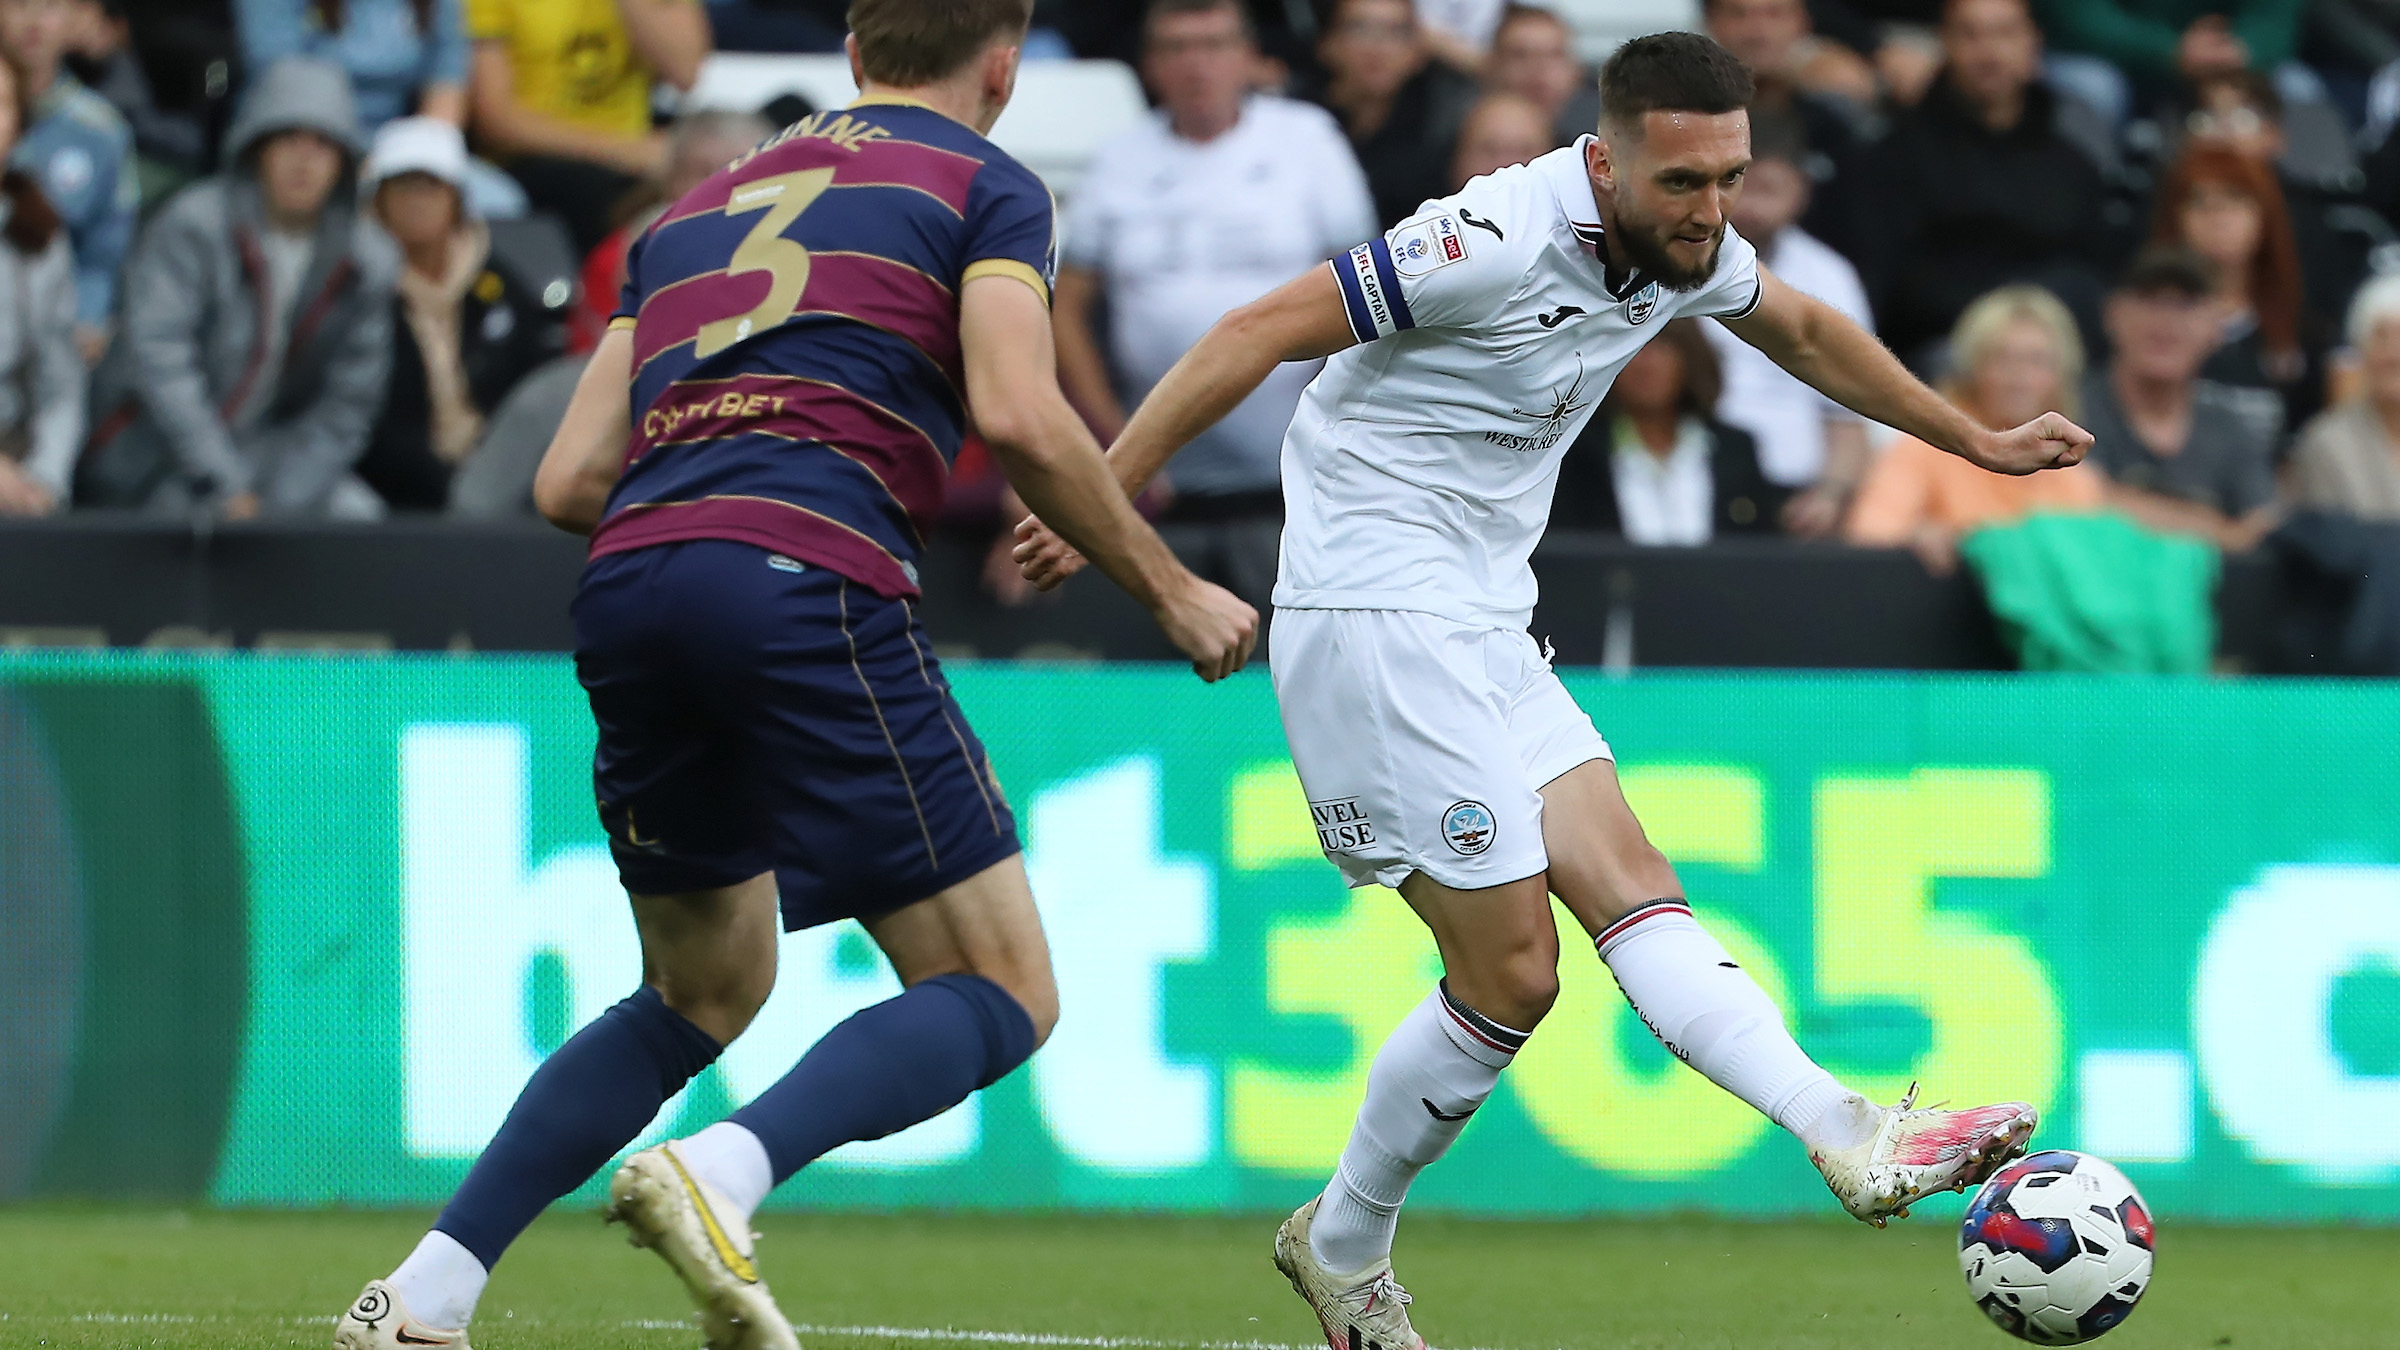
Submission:
M 1358 1124 L 1308 1232 L 1325 1268 L 1363 1271 L 1392 1254 L 1409 1182 L 1450 1151 L 1524 1035 L 1452 999 L 1447 982 L 1399 1019 L 1368 1069 Z

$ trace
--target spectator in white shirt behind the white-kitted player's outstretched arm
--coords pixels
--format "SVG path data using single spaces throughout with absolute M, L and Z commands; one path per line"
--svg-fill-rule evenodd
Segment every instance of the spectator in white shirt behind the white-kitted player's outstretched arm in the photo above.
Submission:
M 1762 130 L 1752 142 L 1750 173 L 1742 175 L 1742 192 L 1728 207 L 1728 219 L 1786 286 L 1834 305 L 1874 331 L 1858 269 L 1800 226 L 1812 183 L 1798 156 L 1793 137 Z M 1726 377 L 1716 416 L 1750 432 L 1757 440 L 1759 468 L 1793 492 L 1783 507 L 1783 528 L 1802 538 L 1831 533 L 1867 473 L 1867 423 L 1802 384 L 1716 319 L 1702 322 L 1699 329 L 1716 348 Z

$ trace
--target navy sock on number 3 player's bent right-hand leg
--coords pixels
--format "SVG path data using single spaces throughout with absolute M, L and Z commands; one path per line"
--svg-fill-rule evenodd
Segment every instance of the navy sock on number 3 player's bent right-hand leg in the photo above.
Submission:
M 852 1014 L 727 1119 L 758 1136 L 780 1187 L 842 1143 L 934 1119 L 1032 1052 L 1034 1021 L 1008 990 L 982 975 L 934 975 Z

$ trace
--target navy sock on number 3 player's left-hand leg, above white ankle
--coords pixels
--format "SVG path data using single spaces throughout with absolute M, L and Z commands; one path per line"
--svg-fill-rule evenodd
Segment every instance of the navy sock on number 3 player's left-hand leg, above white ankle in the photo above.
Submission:
M 434 1227 L 490 1271 L 550 1201 L 634 1143 L 720 1052 L 658 990 L 607 1009 L 533 1071 Z

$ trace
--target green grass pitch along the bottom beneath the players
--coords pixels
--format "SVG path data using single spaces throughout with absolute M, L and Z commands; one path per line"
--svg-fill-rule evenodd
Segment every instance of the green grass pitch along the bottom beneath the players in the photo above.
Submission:
M 0 1345 L 319 1350 L 425 1218 L 0 1208 Z M 768 1215 L 763 1230 L 809 1350 L 1320 1345 L 1267 1264 L 1272 1218 Z M 2014 1345 L 1968 1304 L 1939 1218 L 1886 1232 L 1411 1218 L 1399 1237 L 1418 1331 L 1447 1348 Z M 2400 1230 L 2167 1225 L 2160 1247 L 2114 1350 L 2393 1345 Z M 492 1280 L 475 1345 L 698 1345 L 684 1312 L 653 1256 L 590 1213 L 554 1213 Z

